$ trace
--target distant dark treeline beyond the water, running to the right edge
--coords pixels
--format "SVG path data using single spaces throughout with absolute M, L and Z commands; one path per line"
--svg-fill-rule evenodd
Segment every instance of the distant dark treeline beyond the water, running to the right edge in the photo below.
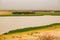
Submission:
M 35 10 L 35 11 L 14 11 L 13 14 L 35 14 L 36 12 L 59 12 L 60 11 L 52 11 L 52 10 Z

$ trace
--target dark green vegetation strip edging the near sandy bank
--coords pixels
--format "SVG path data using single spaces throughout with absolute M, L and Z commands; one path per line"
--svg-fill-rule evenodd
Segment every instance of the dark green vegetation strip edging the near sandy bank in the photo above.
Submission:
M 11 31 L 4 33 L 4 34 L 11 34 L 11 33 L 17 33 L 17 32 L 26 32 L 26 31 L 31 31 L 31 30 L 44 29 L 44 28 L 53 27 L 56 25 L 60 25 L 60 23 L 54 23 L 54 24 L 45 25 L 45 26 L 36 26 L 36 27 L 29 27 L 29 28 L 23 28 L 23 29 L 16 29 L 16 30 L 11 30 Z

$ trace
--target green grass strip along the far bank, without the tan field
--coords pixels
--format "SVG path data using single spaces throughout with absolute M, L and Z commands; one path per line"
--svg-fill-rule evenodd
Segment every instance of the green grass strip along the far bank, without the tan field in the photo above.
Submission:
M 34 14 L 11 14 L 9 15 L 0 15 L 0 16 L 44 16 L 44 15 L 52 15 L 52 16 L 60 16 L 60 12 L 35 12 Z

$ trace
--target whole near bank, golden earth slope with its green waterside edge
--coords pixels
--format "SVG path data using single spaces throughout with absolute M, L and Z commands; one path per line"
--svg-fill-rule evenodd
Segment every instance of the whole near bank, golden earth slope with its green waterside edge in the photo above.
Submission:
M 0 40 L 60 40 L 60 23 L 9 31 Z

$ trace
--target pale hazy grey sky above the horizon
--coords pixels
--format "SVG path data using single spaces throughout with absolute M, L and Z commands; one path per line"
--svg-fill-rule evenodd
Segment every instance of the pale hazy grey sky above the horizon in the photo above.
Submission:
M 0 0 L 0 9 L 60 10 L 60 0 Z

